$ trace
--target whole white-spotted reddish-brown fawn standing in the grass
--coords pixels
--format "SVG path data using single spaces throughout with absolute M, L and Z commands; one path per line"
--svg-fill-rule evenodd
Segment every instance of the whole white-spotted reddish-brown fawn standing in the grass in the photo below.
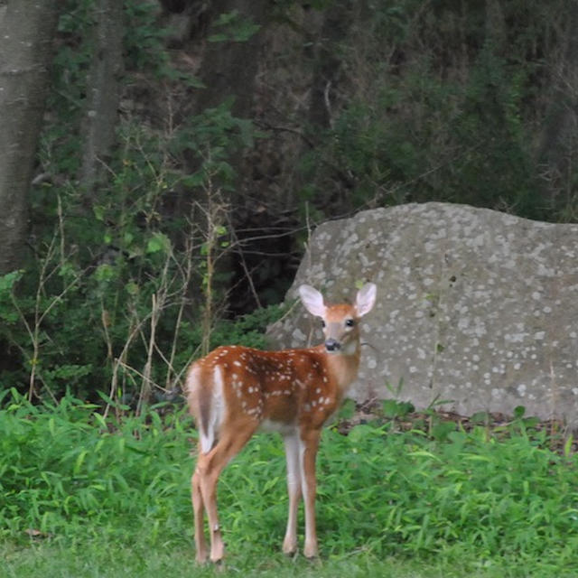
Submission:
M 281 433 L 284 439 L 289 515 L 283 551 L 289 555 L 297 550 L 297 509 L 303 495 L 303 554 L 309 558 L 318 554 L 315 458 L 322 425 L 339 408 L 357 377 L 358 322 L 373 307 L 376 291 L 375 284 L 366 284 L 355 304 L 329 305 L 316 289 L 301 285 L 303 305 L 322 318 L 322 345 L 282 351 L 219 347 L 191 365 L 186 393 L 200 434 L 199 457 L 191 478 L 198 562 L 205 562 L 208 555 L 205 510 L 210 560 L 219 562 L 225 554 L 216 499 L 219 474 L 259 426 Z

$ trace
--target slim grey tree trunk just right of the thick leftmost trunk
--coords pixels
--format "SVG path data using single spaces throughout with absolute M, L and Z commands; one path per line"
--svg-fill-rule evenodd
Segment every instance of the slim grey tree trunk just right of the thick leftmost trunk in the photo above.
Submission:
M 98 182 L 103 161 L 115 143 L 123 70 L 123 3 L 118 0 L 97 0 L 94 11 L 97 24 L 87 83 L 80 169 L 80 182 L 87 200 Z

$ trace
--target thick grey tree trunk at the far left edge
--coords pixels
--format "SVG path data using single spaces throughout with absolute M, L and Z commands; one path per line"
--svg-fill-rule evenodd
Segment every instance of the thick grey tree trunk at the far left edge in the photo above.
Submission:
M 0 7 L 0 275 L 22 264 L 28 190 L 60 5 L 10 0 Z

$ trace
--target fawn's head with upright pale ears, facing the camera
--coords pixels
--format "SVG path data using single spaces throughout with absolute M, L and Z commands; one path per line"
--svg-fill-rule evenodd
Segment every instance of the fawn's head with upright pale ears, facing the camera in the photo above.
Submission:
M 376 302 L 377 287 L 373 283 L 363 285 L 355 303 L 328 305 L 323 296 L 310 285 L 301 285 L 299 295 L 305 309 L 322 318 L 325 350 L 328 353 L 355 353 L 359 345 L 359 318 L 371 311 Z

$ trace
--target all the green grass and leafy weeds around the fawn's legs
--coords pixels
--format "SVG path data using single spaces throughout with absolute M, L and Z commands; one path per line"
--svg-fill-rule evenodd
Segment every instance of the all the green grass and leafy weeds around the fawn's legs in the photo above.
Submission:
M 443 441 L 391 422 L 327 429 L 317 563 L 279 553 L 282 443 L 258 435 L 221 476 L 228 557 L 216 570 L 193 562 L 184 412 L 105 423 L 70 397 L 38 407 L 14 393 L 3 407 L 0 576 L 578 575 L 576 456 L 522 420 Z

